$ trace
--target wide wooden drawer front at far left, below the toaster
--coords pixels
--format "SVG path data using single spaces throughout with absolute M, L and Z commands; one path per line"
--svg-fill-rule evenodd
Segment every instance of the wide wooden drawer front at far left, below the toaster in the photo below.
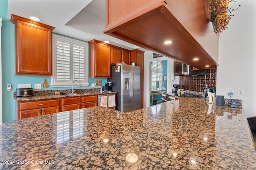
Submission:
M 56 100 L 40 100 L 36 102 L 21 102 L 20 110 L 38 109 L 44 107 L 59 106 L 59 99 Z

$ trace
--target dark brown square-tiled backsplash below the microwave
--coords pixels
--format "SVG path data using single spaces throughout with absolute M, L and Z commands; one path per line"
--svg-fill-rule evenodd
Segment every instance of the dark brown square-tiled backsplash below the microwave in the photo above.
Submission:
M 216 69 L 206 70 L 204 76 L 180 76 L 180 88 L 195 92 L 204 92 L 205 86 L 216 90 Z

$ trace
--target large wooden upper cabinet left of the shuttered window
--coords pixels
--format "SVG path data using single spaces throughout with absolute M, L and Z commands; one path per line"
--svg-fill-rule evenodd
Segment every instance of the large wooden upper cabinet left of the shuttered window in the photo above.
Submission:
M 12 14 L 15 25 L 16 75 L 52 76 L 55 27 Z

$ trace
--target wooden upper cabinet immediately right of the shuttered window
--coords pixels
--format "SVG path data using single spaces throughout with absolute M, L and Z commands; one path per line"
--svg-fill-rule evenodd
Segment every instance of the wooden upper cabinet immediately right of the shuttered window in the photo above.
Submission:
M 110 78 L 111 47 L 95 39 L 90 45 L 90 78 Z

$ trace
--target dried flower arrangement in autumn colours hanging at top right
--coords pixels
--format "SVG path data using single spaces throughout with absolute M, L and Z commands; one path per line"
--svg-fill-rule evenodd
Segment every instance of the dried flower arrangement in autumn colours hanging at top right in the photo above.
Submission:
M 228 8 L 228 4 L 230 2 L 236 2 L 235 0 L 209 0 L 209 16 L 210 21 L 212 22 L 212 26 L 214 29 L 214 33 L 216 35 L 222 34 L 222 31 L 227 29 L 227 25 L 230 19 L 234 16 L 231 14 L 235 10 L 232 8 Z

